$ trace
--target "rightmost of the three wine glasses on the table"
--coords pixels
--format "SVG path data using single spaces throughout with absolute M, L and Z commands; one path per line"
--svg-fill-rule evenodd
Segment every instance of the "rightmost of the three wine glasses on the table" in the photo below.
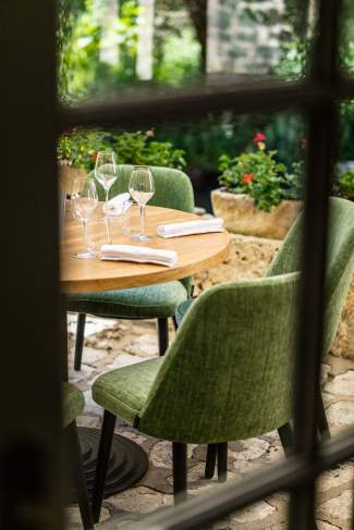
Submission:
M 148 165 L 135 165 L 129 183 L 131 197 L 138 204 L 141 209 L 141 233 L 132 235 L 131 239 L 146 242 L 151 239 L 145 234 L 145 207 L 155 193 L 154 178 Z

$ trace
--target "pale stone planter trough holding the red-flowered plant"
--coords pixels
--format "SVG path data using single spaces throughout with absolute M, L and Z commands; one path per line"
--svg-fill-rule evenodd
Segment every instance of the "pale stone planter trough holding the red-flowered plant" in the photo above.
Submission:
M 283 200 L 270 212 L 258 210 L 247 195 L 236 195 L 222 188 L 211 192 L 213 213 L 223 219 L 224 226 L 235 234 L 283 239 L 298 212 L 300 200 Z

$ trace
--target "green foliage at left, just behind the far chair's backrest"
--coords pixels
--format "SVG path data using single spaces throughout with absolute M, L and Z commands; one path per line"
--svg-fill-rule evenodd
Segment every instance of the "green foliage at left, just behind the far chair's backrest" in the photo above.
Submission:
M 184 169 L 185 152 L 169 141 L 154 139 L 154 130 L 146 133 L 114 133 L 101 130 L 73 130 L 62 135 L 58 159 L 69 160 L 74 168 L 90 171 L 98 151 L 113 150 L 119 163 L 147 164 Z

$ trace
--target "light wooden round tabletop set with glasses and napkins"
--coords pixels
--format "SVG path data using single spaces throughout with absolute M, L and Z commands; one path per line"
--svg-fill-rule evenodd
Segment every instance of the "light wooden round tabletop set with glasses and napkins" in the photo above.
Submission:
M 66 215 L 61 252 L 61 283 L 64 293 L 85 293 L 111 288 L 138 287 L 171 280 L 180 280 L 221 262 L 229 250 L 229 234 L 222 233 L 188 235 L 163 239 L 156 233 L 159 224 L 200 220 L 193 213 L 168 208 L 146 208 L 146 232 L 152 236 L 148 243 L 139 244 L 121 234 L 119 219 L 111 223 L 113 244 L 143 245 L 166 250 L 176 250 L 179 259 L 174 267 L 99 259 L 76 259 L 72 255 L 83 251 L 83 226 Z M 97 230 L 105 230 L 105 223 Z M 98 225 L 97 224 L 97 225 Z M 93 224 L 96 230 L 96 224 Z

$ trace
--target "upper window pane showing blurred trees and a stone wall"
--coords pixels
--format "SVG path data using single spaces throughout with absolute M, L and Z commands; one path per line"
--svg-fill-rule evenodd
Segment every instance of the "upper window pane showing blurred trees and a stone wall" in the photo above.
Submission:
M 60 97 L 297 78 L 315 23 L 314 9 L 300 3 L 60 0 Z

